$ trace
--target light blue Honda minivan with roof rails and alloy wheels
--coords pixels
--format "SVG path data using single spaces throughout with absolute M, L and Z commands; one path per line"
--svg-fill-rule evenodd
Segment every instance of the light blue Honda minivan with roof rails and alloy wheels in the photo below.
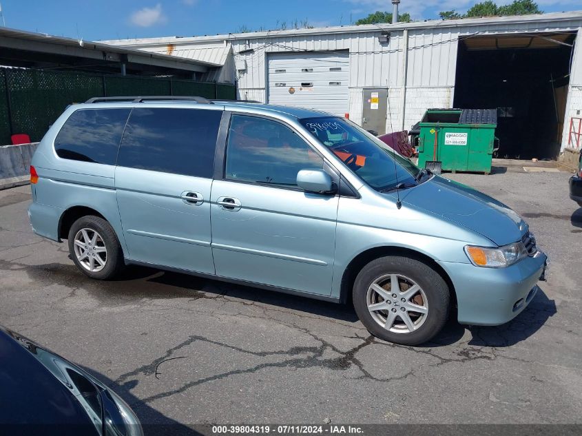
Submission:
M 52 125 L 31 175 L 34 231 L 67 239 L 91 278 L 140 264 L 351 298 L 400 344 L 433 338 L 453 305 L 463 324 L 508 322 L 545 270 L 514 211 L 311 110 L 92 99 Z

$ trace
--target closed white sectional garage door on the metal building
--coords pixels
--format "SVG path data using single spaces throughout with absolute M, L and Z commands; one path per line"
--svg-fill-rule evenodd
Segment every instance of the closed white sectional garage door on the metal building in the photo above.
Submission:
M 349 53 L 268 55 L 269 103 L 343 116 L 349 112 Z

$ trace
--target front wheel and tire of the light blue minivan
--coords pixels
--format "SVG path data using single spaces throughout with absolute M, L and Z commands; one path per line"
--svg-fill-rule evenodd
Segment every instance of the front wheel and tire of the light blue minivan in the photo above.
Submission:
M 448 319 L 449 300 L 448 285 L 439 273 L 401 256 L 366 264 L 353 287 L 353 306 L 362 324 L 395 344 L 418 345 L 434 338 Z

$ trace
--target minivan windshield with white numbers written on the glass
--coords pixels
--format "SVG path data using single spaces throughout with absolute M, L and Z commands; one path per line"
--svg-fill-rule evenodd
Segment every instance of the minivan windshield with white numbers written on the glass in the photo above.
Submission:
M 374 189 L 417 183 L 418 167 L 351 121 L 329 116 L 304 118 L 300 123 Z

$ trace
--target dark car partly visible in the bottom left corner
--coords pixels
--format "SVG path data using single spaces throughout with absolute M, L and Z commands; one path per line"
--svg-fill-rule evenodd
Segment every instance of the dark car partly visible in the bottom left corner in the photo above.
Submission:
M 4 435 L 143 435 L 132 409 L 110 388 L 2 326 L 0 386 Z

